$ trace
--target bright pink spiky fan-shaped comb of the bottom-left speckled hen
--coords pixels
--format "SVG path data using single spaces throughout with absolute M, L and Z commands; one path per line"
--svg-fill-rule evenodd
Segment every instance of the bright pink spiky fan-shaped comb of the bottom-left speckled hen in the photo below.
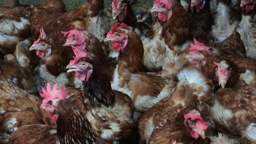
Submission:
M 68 96 L 68 93 L 67 91 L 65 91 L 63 89 L 63 87 L 57 89 L 58 87 L 58 83 L 56 83 L 53 87 L 53 90 L 51 90 L 51 86 L 50 86 L 50 83 L 47 83 L 46 85 L 46 89 L 44 89 L 42 87 L 42 92 L 43 93 L 40 93 L 40 96 L 42 98 L 44 98 L 43 100 L 43 105 L 46 105 L 46 103 L 48 103 L 48 101 L 50 100 L 54 100 L 54 99 L 66 99 L 67 96 Z

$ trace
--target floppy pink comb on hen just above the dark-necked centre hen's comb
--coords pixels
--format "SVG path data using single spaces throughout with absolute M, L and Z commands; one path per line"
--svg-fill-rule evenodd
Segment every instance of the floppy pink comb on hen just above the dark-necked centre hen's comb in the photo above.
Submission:
M 73 35 L 75 35 L 75 41 L 77 42 L 77 45 L 82 45 L 85 42 L 84 33 L 78 31 L 77 29 L 61 33 L 64 34 L 64 37 L 67 37 L 67 40 L 72 39 Z

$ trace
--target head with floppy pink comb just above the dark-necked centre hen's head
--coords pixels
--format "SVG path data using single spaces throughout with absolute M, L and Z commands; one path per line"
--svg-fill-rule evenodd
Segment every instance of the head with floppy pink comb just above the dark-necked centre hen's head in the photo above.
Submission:
M 85 35 L 83 32 L 78 31 L 77 29 L 73 29 L 68 32 L 61 32 L 66 37 L 66 43 L 63 46 L 79 46 L 82 49 L 85 49 Z

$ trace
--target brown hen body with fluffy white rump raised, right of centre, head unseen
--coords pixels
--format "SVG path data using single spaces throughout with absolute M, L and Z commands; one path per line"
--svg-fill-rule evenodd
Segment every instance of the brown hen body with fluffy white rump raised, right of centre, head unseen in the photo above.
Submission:
M 141 139 L 145 140 L 147 143 L 156 126 L 165 125 L 167 121 L 173 122 L 174 119 L 172 118 L 176 117 L 185 107 L 201 105 L 201 110 L 205 111 L 207 107 L 203 105 L 206 103 L 211 104 L 212 98 L 210 93 L 212 88 L 207 84 L 208 81 L 206 77 L 203 77 L 199 71 L 184 69 L 178 74 L 178 79 L 180 82 L 172 95 L 155 104 L 152 109 L 145 112 L 139 120 L 138 129 Z M 189 86 L 193 86 L 193 89 L 190 89 Z

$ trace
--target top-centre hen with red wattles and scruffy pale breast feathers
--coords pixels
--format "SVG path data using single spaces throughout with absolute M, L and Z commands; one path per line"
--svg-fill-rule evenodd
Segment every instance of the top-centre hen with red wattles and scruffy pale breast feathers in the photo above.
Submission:
M 183 49 L 182 45 L 191 38 L 191 35 L 190 17 L 179 1 L 156 0 L 151 11 L 158 12 L 158 20 L 150 29 L 149 37 L 142 37 L 142 41 L 143 63 L 148 71 L 153 72 L 161 70 L 168 53 L 176 46 Z

